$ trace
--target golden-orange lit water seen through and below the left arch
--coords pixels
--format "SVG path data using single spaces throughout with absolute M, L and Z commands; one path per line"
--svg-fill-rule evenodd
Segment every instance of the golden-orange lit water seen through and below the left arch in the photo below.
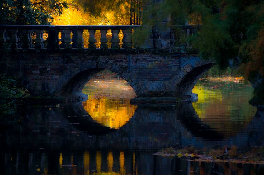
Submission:
M 93 120 L 110 128 L 124 126 L 137 108 L 130 104 L 136 94 L 125 80 L 94 79 L 86 84 L 83 93 L 88 94 L 84 109 Z

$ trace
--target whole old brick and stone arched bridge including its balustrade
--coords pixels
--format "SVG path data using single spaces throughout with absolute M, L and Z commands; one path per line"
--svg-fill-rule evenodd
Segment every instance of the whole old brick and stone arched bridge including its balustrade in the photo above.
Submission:
M 138 27 L 0 25 L 1 70 L 21 80 L 31 96 L 41 98 L 83 96 L 84 85 L 104 69 L 125 79 L 138 97 L 191 94 L 196 81 L 214 65 L 200 60 L 186 40 L 199 26 L 177 26 L 180 36 L 168 29 L 140 47 L 133 40 Z M 89 31 L 88 48 L 84 30 Z M 43 33 L 48 35 L 45 40 Z

